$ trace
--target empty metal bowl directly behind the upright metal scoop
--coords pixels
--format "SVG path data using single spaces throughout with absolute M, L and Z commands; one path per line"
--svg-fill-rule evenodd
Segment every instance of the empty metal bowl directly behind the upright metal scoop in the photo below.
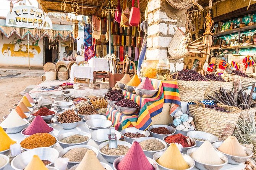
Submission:
M 109 140 L 109 129 L 98 129 L 94 130 L 91 135 L 92 135 L 92 140 L 94 140 L 98 145 L 104 143 L 105 141 Z M 117 135 L 117 140 L 120 140 L 122 135 L 120 132 L 115 130 L 115 134 Z

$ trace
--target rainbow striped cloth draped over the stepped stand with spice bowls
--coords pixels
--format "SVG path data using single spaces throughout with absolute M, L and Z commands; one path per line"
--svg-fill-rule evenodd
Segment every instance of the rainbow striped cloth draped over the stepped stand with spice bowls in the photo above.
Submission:
M 152 98 L 141 98 L 136 94 L 123 91 L 126 98 L 133 100 L 140 106 L 136 114 L 122 115 L 116 109 L 108 106 L 106 116 L 108 120 L 112 121 L 116 130 L 121 131 L 128 127 L 146 130 L 151 125 L 151 118 L 162 112 L 164 103 L 171 103 L 170 114 L 172 116 L 181 110 L 177 81 L 151 79 L 151 83 L 155 89 L 159 89 Z

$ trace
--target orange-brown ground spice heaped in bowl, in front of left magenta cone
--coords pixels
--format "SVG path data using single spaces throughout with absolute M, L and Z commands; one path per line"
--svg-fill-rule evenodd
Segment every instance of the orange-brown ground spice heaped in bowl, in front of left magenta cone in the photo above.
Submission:
M 57 140 L 54 136 L 49 133 L 36 133 L 34 135 L 25 138 L 21 141 L 21 148 L 26 150 L 34 149 L 34 148 L 42 148 L 42 147 L 50 147 L 57 143 Z

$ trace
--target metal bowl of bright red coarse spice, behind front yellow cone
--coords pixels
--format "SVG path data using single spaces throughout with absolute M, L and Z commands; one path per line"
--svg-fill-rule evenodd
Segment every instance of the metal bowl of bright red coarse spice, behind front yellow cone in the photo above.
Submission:
M 170 143 L 179 143 L 183 146 L 182 153 L 188 151 L 188 149 L 194 148 L 196 146 L 196 141 L 188 136 L 182 134 L 177 135 L 167 135 L 164 136 L 163 140 L 170 146 Z

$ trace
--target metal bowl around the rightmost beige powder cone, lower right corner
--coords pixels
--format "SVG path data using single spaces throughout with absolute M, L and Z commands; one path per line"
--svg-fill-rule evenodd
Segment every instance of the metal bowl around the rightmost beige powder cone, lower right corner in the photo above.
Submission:
M 218 150 L 218 148 L 220 147 L 220 145 L 222 144 L 223 142 L 215 142 L 214 144 L 212 144 L 212 146 L 214 147 L 214 149 L 218 152 L 220 152 Z M 247 156 L 232 156 L 232 155 L 229 155 L 229 154 L 225 154 L 223 152 L 220 152 L 222 154 L 224 154 L 225 156 L 227 156 L 228 158 L 228 164 L 233 164 L 233 165 L 238 165 L 238 164 L 241 164 L 243 162 L 245 162 L 248 158 L 250 158 L 252 155 L 253 155 L 253 152 L 248 149 L 248 148 L 245 148 L 243 147 L 243 150 L 246 152 Z

